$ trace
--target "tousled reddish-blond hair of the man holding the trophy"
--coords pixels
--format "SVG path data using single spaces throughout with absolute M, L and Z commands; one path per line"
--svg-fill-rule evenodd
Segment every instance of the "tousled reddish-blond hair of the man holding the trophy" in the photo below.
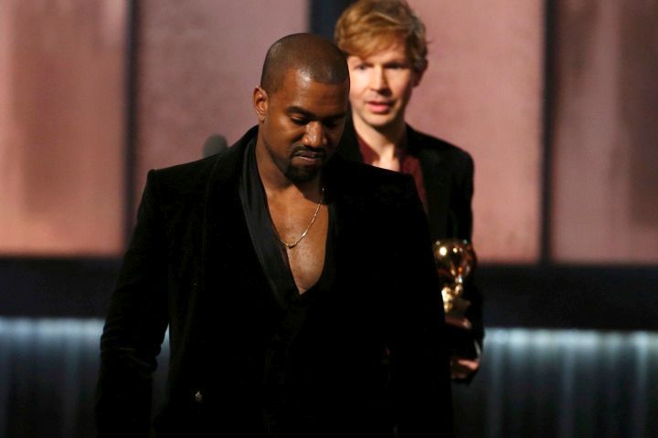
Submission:
M 425 25 L 405 0 L 359 0 L 338 18 L 334 40 L 346 56 L 368 57 L 404 44 L 412 67 L 427 66 Z

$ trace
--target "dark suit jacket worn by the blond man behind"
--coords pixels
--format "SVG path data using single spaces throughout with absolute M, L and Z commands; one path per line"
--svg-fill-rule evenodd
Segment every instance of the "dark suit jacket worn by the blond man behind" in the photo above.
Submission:
M 472 239 L 473 162 L 471 155 L 457 146 L 407 126 L 409 155 L 417 157 L 423 173 L 428 203 L 431 241 L 449 237 Z M 337 153 L 346 160 L 363 162 L 354 124 L 345 123 L 345 133 Z M 472 278 L 464 290 L 464 298 L 472 305 L 467 313 L 475 339 L 482 347 L 482 296 Z

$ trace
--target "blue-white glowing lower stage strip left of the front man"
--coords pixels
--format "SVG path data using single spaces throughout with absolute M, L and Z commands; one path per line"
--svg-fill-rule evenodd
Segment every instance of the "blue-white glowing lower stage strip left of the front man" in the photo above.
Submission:
M 0 436 L 96 437 L 101 331 L 100 319 L 0 318 Z M 158 405 L 165 370 L 154 374 Z

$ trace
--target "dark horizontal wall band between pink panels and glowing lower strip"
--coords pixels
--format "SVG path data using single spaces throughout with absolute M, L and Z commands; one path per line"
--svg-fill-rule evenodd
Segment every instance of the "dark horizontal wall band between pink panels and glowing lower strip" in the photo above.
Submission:
M 1 259 L 0 316 L 102 318 L 118 259 Z M 658 329 L 658 267 L 480 266 L 486 326 Z

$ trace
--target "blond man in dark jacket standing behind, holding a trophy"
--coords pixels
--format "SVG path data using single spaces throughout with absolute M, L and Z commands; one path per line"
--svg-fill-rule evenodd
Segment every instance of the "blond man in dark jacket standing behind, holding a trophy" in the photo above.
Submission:
M 425 26 L 404 0 L 360 0 L 335 27 L 336 45 L 347 57 L 351 120 L 337 153 L 413 176 L 428 214 L 432 241 L 472 237 L 473 163 L 466 151 L 413 130 L 405 111 L 428 68 Z M 480 365 L 483 339 L 481 297 L 468 285 L 466 318 L 452 320 L 451 376 L 470 381 Z M 471 328 L 454 329 L 455 325 Z M 470 350 L 470 351 L 469 351 Z

